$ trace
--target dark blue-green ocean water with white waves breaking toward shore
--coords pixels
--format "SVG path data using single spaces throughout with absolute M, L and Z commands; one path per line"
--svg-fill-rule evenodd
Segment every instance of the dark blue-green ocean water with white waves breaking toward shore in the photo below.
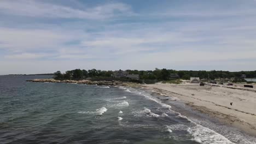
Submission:
M 256 143 L 142 89 L 26 82 L 48 77 L 0 76 L 0 143 Z

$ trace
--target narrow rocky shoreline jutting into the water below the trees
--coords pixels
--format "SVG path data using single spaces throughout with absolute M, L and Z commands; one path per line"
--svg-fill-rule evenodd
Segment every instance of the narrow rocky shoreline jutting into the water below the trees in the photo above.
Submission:
M 86 85 L 105 85 L 105 86 L 130 86 L 137 87 L 138 83 L 122 82 L 122 81 L 90 81 L 90 80 L 55 80 L 55 79 L 33 79 L 30 82 L 54 82 L 54 83 L 80 83 Z

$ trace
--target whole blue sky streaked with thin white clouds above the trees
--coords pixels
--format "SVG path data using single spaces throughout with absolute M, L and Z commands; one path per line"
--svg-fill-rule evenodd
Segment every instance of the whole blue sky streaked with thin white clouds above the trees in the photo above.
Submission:
M 256 70 L 256 1 L 0 1 L 0 75 L 77 68 Z

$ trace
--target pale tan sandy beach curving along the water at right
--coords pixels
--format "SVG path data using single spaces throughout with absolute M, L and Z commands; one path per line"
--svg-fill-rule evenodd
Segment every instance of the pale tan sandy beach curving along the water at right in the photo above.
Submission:
M 256 136 L 256 92 L 190 83 L 156 83 L 146 88 L 176 97 L 195 110 Z

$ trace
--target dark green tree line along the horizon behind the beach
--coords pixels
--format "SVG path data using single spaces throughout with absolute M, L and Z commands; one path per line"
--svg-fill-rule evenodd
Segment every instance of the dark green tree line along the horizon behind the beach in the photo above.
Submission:
M 178 74 L 181 79 L 189 80 L 190 77 L 200 77 L 200 79 L 208 79 L 208 76 L 211 80 L 214 79 L 231 79 L 231 78 L 240 78 L 242 74 L 245 74 L 247 77 L 253 78 L 256 77 L 255 71 L 222 71 L 222 70 L 173 70 L 173 69 L 158 69 L 155 70 L 125 70 L 127 74 L 138 74 L 140 79 L 145 80 L 170 80 L 170 74 Z M 56 71 L 54 73 L 55 79 L 65 79 L 65 80 L 77 80 L 77 79 L 86 79 L 87 77 L 111 77 L 114 74 L 112 70 L 81 70 L 74 69 L 68 70 L 65 73 L 61 71 Z

